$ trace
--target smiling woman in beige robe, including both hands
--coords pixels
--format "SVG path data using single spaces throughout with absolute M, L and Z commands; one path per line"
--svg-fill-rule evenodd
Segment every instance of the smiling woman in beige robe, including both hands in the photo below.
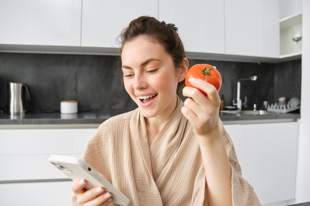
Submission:
M 189 67 L 173 24 L 141 16 L 120 35 L 125 89 L 134 111 L 105 121 L 83 159 L 130 199 L 131 206 L 258 206 L 241 177 L 233 143 L 219 120 L 215 87 L 199 79 L 177 96 Z M 102 187 L 76 181 L 73 205 L 106 206 Z

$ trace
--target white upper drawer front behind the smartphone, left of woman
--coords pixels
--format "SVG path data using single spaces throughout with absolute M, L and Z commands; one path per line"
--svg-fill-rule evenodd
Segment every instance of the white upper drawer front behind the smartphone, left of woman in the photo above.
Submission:
M 95 132 L 95 128 L 0 129 L 0 165 L 9 166 L 9 169 L 0 169 L 0 182 L 67 179 L 49 163 L 49 156 L 80 158 Z

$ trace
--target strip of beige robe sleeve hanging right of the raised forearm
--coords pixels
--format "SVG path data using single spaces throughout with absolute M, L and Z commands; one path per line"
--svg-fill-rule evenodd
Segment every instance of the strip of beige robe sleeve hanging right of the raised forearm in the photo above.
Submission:
M 224 146 L 231 166 L 231 186 L 233 206 L 260 206 L 254 188 L 241 176 L 241 167 L 237 159 L 234 144 L 225 130 L 222 122 L 219 122 Z

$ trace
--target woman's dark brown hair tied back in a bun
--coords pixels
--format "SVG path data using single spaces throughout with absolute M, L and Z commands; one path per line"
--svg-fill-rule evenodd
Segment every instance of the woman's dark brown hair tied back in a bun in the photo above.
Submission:
M 132 41 L 142 35 L 161 43 L 165 51 L 170 54 L 175 68 L 179 68 L 182 65 L 185 58 L 185 50 L 178 35 L 178 28 L 174 24 L 166 24 L 164 21 L 158 21 L 150 16 L 140 16 L 132 20 L 128 27 L 121 32 L 118 37 L 118 41 L 121 44 L 120 53 L 122 53 L 123 46 L 127 41 Z M 180 87 L 184 85 L 183 82 L 178 84 L 178 94 Z

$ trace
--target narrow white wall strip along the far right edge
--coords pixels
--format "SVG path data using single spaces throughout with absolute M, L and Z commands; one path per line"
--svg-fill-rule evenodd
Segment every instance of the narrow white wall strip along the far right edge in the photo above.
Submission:
M 301 119 L 297 160 L 296 199 L 290 204 L 310 202 L 310 0 L 303 0 L 303 56 Z

